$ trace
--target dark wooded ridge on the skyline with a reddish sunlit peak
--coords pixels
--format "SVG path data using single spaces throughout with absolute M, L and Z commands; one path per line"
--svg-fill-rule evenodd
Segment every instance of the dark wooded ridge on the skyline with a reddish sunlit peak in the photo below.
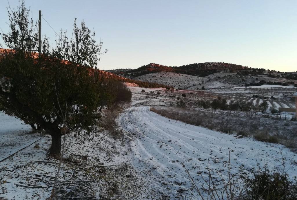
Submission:
M 144 74 L 156 73 L 156 72 L 174 72 L 179 74 L 188 74 L 192 76 L 205 77 L 216 72 L 221 72 L 224 70 L 235 72 L 238 70 L 249 69 L 248 67 L 243 67 L 242 65 L 230 64 L 225 62 L 203 62 L 194 63 L 190 65 L 183 65 L 179 67 L 171 67 L 159 65 L 156 63 L 150 63 L 148 65 L 143 65 L 137 69 L 122 69 L 113 70 L 112 72 L 120 76 L 127 78 L 135 78 Z

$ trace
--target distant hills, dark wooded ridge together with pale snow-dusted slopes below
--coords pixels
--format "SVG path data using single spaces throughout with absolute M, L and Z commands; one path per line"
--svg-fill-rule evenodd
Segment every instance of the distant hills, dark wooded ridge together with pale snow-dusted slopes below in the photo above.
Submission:
M 204 62 L 179 67 L 150 63 L 137 69 L 110 70 L 121 77 L 172 85 L 175 88 L 228 88 L 259 85 L 291 85 L 297 83 L 295 72 L 280 72 L 225 62 Z

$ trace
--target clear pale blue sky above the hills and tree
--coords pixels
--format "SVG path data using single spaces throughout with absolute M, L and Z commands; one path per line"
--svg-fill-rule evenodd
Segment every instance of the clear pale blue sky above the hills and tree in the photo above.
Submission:
M 0 27 L 7 31 L 6 0 Z M 10 0 L 16 7 L 17 0 Z M 138 68 L 150 62 L 180 66 L 230 62 L 297 71 L 297 1 L 26 0 L 58 32 L 84 19 L 108 53 L 100 69 Z M 42 34 L 55 33 L 42 19 Z

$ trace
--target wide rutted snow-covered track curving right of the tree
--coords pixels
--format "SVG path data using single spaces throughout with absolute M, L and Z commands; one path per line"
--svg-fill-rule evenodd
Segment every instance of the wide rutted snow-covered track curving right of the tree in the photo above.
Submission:
M 228 148 L 231 173 L 242 168 L 249 174 L 265 164 L 268 169 L 282 170 L 283 157 L 289 176 L 297 175 L 297 156 L 282 145 L 236 139 L 234 135 L 162 117 L 149 108 L 130 107 L 119 117 L 119 124 L 133 135 L 131 162 L 150 182 L 148 188 L 170 197 L 186 195 L 199 199 L 194 190 L 189 190 L 191 184 L 181 162 L 194 180 L 202 183 L 200 174 L 208 177 L 208 160 L 210 168 L 223 169 L 223 175 L 227 173 Z

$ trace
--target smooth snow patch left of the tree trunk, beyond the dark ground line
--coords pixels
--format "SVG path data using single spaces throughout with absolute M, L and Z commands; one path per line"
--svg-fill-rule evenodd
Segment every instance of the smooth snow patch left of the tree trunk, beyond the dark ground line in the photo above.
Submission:
M 0 127 L 0 160 L 40 138 L 39 133 L 27 134 L 31 131 L 29 125 L 3 112 L 0 112 Z

